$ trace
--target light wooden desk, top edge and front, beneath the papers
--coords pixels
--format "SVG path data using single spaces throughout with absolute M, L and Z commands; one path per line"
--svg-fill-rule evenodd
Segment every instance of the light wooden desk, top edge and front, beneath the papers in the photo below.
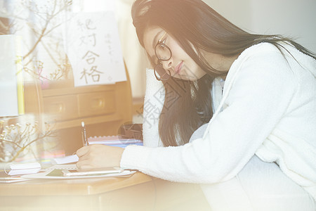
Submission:
M 38 179 L 0 184 L 0 210 L 210 210 L 196 184 L 131 177 Z

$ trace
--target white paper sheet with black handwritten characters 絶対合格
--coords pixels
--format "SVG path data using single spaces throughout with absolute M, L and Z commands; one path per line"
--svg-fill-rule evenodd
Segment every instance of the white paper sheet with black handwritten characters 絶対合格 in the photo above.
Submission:
M 65 31 L 75 87 L 126 81 L 114 11 L 77 13 Z

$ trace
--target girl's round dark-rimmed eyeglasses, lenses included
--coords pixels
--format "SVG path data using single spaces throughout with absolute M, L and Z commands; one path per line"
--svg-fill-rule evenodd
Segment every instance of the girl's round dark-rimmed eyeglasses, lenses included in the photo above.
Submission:
M 158 58 L 158 64 L 156 65 L 156 67 L 154 67 L 154 76 L 159 81 L 166 81 L 171 76 L 171 72 L 169 70 L 167 70 L 167 72 L 162 66 L 162 61 L 169 60 L 172 56 L 171 50 L 168 46 L 166 46 L 166 44 L 164 44 L 164 41 L 162 41 L 165 35 L 166 32 L 164 32 L 162 38 L 158 40 L 157 45 L 154 46 L 154 54 Z

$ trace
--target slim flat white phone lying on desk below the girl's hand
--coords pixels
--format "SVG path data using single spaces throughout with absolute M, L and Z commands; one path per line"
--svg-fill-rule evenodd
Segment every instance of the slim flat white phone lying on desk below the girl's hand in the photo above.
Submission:
M 91 169 L 91 170 L 62 170 L 64 177 L 72 176 L 101 176 L 106 174 L 117 174 L 123 172 L 120 167 L 108 167 L 102 169 Z

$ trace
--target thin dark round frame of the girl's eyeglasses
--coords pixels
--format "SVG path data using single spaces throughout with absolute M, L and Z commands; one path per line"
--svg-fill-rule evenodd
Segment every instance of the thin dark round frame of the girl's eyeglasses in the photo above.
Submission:
M 166 32 L 164 32 L 164 35 L 166 34 Z M 162 36 L 162 37 L 164 37 L 164 35 Z M 164 46 L 166 49 L 168 49 L 169 50 L 169 52 L 170 52 L 170 56 L 169 56 L 169 58 L 159 58 L 158 56 L 157 56 L 157 46 Z M 154 76 L 156 77 L 156 79 L 158 80 L 158 81 L 166 81 L 166 80 L 168 80 L 170 77 L 171 77 L 171 72 L 170 72 L 170 70 L 164 70 L 164 67 L 162 66 L 162 61 L 166 61 L 166 60 L 169 60 L 171 57 L 172 57 L 172 51 L 171 51 L 171 49 L 169 48 L 169 46 L 167 46 L 166 44 L 164 44 L 163 42 L 162 42 L 162 38 L 161 39 L 159 39 L 158 40 L 158 42 L 157 42 L 157 44 L 156 44 L 156 46 L 154 46 L 154 55 L 158 58 L 158 61 L 157 61 L 157 65 L 154 67 Z M 159 70 L 160 69 L 160 70 Z M 158 70 L 158 71 L 157 71 Z M 162 73 L 162 70 L 164 70 L 164 74 L 159 74 L 159 72 L 161 72 Z M 167 72 L 168 71 L 168 72 Z M 158 76 L 157 75 L 157 73 L 156 72 L 158 72 L 158 74 L 159 75 L 162 75 L 162 76 Z

